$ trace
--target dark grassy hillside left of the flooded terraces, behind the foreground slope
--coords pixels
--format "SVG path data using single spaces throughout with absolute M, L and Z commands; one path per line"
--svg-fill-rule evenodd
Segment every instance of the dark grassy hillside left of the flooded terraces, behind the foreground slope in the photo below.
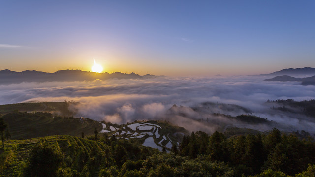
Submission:
M 81 136 L 92 135 L 95 128 L 100 131 L 102 125 L 91 119 L 62 118 L 50 113 L 9 113 L 3 115 L 9 125 L 12 139 L 27 139 L 51 135 Z

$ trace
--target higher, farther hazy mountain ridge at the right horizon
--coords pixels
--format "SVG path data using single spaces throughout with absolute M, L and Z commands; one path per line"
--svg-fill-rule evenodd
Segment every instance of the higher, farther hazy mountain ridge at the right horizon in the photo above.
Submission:
M 288 68 L 282 69 L 269 74 L 259 74 L 255 76 L 283 76 L 283 75 L 315 75 L 315 68 L 304 67 L 304 68 Z

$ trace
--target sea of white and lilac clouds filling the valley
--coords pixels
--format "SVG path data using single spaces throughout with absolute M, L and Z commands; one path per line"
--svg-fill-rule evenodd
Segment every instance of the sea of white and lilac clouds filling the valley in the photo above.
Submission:
M 218 102 L 245 107 L 254 115 L 288 124 L 295 129 L 311 130 L 315 125 L 311 118 L 302 115 L 271 113 L 270 108 L 263 103 L 268 99 L 290 98 L 296 101 L 315 99 L 315 86 L 302 86 L 299 82 L 266 82 L 263 81 L 264 79 L 266 78 L 250 76 L 158 77 L 138 80 L 0 84 L 0 104 L 72 100 L 80 102 L 73 108 L 78 110 L 76 117 L 112 123 L 133 122 L 137 119 L 164 119 L 184 126 L 190 131 L 213 132 L 216 126 L 204 125 L 197 121 L 197 118 L 208 118 L 208 116 L 198 114 L 193 110 L 189 111 L 189 107 L 202 102 Z M 188 116 L 167 115 L 167 111 L 174 104 L 187 107 Z M 232 116 L 244 114 L 241 110 L 221 113 Z M 222 118 L 222 121 L 226 120 Z

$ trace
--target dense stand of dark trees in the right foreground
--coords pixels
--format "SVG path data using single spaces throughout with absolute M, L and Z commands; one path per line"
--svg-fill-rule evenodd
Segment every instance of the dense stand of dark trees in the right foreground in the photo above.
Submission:
M 224 162 L 233 168 L 234 176 L 256 175 L 266 170 L 295 175 L 315 164 L 314 139 L 299 139 L 274 128 L 269 134 L 248 134 L 227 139 L 218 131 L 212 135 L 198 131 L 184 136 L 172 151 L 195 159 L 205 155 L 210 161 Z

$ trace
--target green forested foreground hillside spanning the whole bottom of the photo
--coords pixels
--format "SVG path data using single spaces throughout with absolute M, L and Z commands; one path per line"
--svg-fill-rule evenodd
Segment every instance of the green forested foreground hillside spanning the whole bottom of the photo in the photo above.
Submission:
M 96 133 L 97 136 L 97 133 Z M 138 141 L 50 136 L 9 140 L 0 148 L 0 177 L 310 177 L 314 140 L 274 129 L 226 138 L 191 133 L 170 153 Z

